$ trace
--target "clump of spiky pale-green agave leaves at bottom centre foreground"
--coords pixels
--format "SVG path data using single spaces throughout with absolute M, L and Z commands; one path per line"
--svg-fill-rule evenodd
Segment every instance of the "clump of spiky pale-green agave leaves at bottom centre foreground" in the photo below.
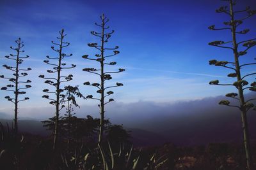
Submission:
M 106 147 L 102 145 L 93 150 L 86 149 L 83 152 L 83 146 L 76 148 L 74 153 L 68 159 L 68 154 L 61 154 L 63 169 L 81 169 L 81 170 L 156 170 L 163 166 L 168 160 L 166 155 L 157 158 L 157 154 L 150 155 L 147 162 L 142 162 L 141 149 L 136 151 L 132 145 L 120 143 L 119 148 L 113 148 L 108 142 Z

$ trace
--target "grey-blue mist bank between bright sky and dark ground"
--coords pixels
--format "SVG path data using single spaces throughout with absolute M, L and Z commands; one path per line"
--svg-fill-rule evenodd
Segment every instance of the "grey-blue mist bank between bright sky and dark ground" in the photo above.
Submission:
M 253 95 L 250 93 L 246 97 L 253 97 Z M 127 128 L 159 134 L 163 136 L 163 143 L 170 141 L 179 145 L 194 145 L 241 141 L 240 112 L 236 108 L 218 105 L 221 99 L 225 97 L 207 97 L 176 103 L 147 101 L 129 104 L 112 103 L 106 107 L 106 118 L 109 118 L 113 124 L 123 124 Z M 21 108 L 21 112 L 23 114 L 20 115 L 20 119 L 30 117 L 45 120 L 52 117 L 54 108 Z M 76 113 L 77 117 L 86 117 L 86 115 L 99 117 L 99 109 L 96 105 L 82 105 Z M 6 117 L 6 114 L 4 115 Z M 256 139 L 255 120 L 255 112 L 249 112 L 248 123 L 252 139 Z

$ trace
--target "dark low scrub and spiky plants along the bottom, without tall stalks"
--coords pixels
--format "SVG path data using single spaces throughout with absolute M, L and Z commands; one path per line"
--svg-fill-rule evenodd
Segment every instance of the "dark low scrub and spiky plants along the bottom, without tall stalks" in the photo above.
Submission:
M 162 146 L 134 148 L 129 132 L 121 125 L 109 124 L 102 145 L 97 147 L 97 131 L 93 124 L 99 119 L 84 118 L 90 132 L 67 140 L 61 136 L 57 150 L 52 150 L 52 138 L 31 134 L 13 135 L 13 129 L 1 125 L 1 169 L 241 169 L 246 166 L 243 145 L 210 143 L 206 146 Z M 61 121 L 60 121 L 61 122 Z M 61 133 L 60 133 L 61 134 Z M 90 136 L 90 137 L 89 137 Z M 84 138 L 90 140 L 83 140 Z M 113 138 L 114 137 L 114 138 Z M 252 150 L 256 143 L 252 143 Z M 252 155 L 256 162 L 256 155 Z

